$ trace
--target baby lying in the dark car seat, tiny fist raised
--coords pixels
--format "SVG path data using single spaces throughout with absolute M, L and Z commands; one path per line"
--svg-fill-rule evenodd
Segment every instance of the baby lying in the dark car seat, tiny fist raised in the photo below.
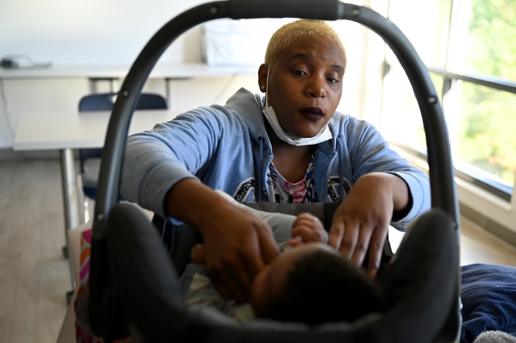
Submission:
M 283 253 L 254 278 L 244 304 L 223 299 L 202 265 L 188 265 L 181 277 L 187 305 L 213 306 L 237 322 L 268 318 L 308 324 L 352 321 L 384 308 L 380 286 L 326 244 L 328 233 L 317 217 L 247 209 L 267 222 Z

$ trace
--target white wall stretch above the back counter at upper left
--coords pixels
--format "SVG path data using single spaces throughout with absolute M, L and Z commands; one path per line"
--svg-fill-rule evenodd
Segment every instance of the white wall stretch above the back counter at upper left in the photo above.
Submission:
M 0 55 L 54 64 L 130 64 L 167 21 L 202 0 L 2 0 Z M 164 60 L 200 61 L 183 36 Z M 195 38 L 193 38 L 195 39 Z

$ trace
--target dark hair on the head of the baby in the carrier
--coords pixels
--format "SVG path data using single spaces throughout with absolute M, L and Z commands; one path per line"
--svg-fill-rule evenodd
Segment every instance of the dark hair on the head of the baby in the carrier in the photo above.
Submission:
M 363 269 L 326 249 L 299 259 L 275 298 L 262 317 L 311 325 L 353 321 L 384 310 L 386 301 L 383 289 Z

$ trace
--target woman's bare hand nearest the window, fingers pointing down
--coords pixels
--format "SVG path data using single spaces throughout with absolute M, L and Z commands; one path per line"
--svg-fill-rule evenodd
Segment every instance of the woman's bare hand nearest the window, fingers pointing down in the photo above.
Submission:
M 409 190 L 393 174 L 371 173 L 361 177 L 333 216 L 329 244 L 356 265 L 369 249 L 368 272 L 376 277 L 393 211 L 404 210 Z

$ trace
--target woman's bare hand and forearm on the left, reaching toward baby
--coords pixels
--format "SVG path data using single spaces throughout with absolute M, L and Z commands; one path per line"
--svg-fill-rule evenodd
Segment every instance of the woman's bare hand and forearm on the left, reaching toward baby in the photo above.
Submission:
M 166 208 L 201 232 L 204 244 L 192 250 L 192 261 L 205 265 L 220 294 L 247 301 L 254 277 L 279 254 L 271 229 L 193 179 L 171 189 Z

